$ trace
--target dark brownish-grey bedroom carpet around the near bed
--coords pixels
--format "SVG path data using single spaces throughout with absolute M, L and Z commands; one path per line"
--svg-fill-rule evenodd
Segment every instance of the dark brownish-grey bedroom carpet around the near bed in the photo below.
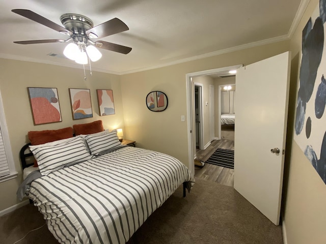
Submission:
M 0 242 L 13 243 L 42 226 L 37 208 L 29 204 L 0 217 Z M 58 243 L 44 226 L 22 243 Z M 182 197 L 182 187 L 160 207 L 128 244 L 282 244 L 282 228 L 268 221 L 233 188 L 196 179 L 193 191 Z

